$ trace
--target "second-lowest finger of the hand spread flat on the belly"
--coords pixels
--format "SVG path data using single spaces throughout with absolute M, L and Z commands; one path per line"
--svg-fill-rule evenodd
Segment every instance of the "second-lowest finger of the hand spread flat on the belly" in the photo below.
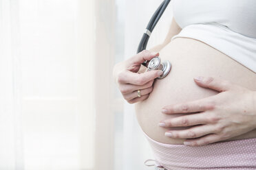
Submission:
M 169 130 L 165 133 L 165 136 L 171 138 L 199 138 L 206 134 L 213 134 L 214 132 L 214 125 L 198 125 L 188 130 Z

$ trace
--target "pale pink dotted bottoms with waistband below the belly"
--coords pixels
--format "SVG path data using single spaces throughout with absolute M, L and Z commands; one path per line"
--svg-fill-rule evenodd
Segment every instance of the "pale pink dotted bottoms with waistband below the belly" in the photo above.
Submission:
M 256 170 L 256 138 L 213 143 L 201 147 L 158 143 L 149 136 L 147 139 L 153 149 L 157 165 L 167 170 Z

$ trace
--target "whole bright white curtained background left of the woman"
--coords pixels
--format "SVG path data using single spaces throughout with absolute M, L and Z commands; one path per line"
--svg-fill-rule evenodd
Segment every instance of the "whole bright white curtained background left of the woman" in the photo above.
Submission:
M 150 169 L 111 71 L 161 2 L 0 0 L 0 170 Z M 170 23 L 169 5 L 148 48 Z

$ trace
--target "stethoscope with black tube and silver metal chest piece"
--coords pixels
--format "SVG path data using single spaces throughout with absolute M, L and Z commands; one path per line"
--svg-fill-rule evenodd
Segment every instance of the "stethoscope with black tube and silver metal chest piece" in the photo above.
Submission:
M 143 51 L 147 47 L 147 42 L 149 41 L 149 37 L 151 36 L 151 32 L 153 32 L 154 27 L 158 23 L 160 17 L 162 16 L 162 13 L 164 13 L 164 10 L 167 8 L 167 5 L 169 4 L 171 0 L 164 0 L 161 5 L 158 7 L 156 12 L 151 17 L 146 32 L 143 34 L 140 44 L 138 46 L 137 53 L 140 53 L 140 51 Z M 161 62 L 161 59 L 159 57 L 152 58 L 149 62 L 145 61 L 142 63 L 142 65 L 147 66 L 148 70 L 162 70 L 163 73 L 158 77 L 158 79 L 162 79 L 168 75 L 168 73 L 171 70 L 171 62 L 169 61 L 163 61 Z

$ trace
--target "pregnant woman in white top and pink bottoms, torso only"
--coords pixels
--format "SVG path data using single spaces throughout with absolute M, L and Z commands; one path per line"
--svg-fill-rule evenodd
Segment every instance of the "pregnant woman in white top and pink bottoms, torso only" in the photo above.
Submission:
M 163 169 L 256 169 L 255 9 L 255 0 L 173 0 L 162 45 L 114 67 Z M 172 64 L 162 80 L 140 66 L 158 55 Z

